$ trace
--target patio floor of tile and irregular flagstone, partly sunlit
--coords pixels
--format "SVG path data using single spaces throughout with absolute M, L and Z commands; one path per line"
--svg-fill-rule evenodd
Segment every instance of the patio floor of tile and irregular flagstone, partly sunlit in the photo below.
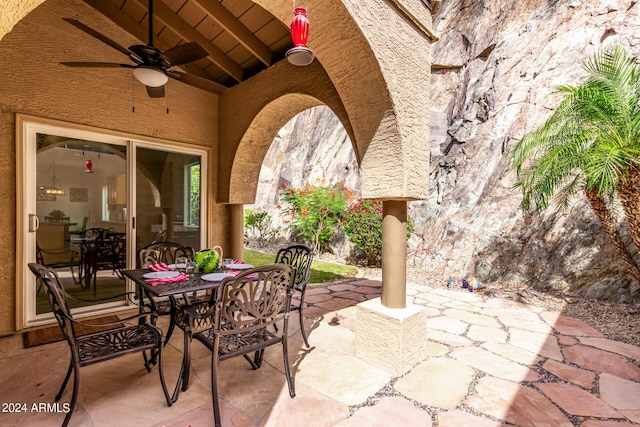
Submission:
M 582 426 L 640 425 L 640 347 L 605 339 L 584 322 L 481 292 L 409 284 L 429 316 L 428 358 L 394 377 L 355 356 L 355 304 L 380 295 L 380 281 L 349 279 L 308 289 L 312 348 L 291 322 L 295 399 L 280 348 L 257 371 L 222 363 L 224 426 Z M 161 323 L 161 327 L 165 326 Z M 182 335 L 166 347 L 177 378 Z M 194 342 L 191 386 L 168 407 L 157 369 L 139 355 L 85 367 L 72 426 L 211 426 L 210 355 Z M 52 403 L 66 371 L 65 343 L 22 348 L 0 338 L 0 426 L 57 426 Z M 70 387 L 62 402 L 68 402 Z M 33 404 L 36 404 L 35 406 Z M 14 405 L 11 405 L 14 404 Z M 16 412 L 16 405 L 26 411 Z M 23 406 L 24 405 L 24 406 Z

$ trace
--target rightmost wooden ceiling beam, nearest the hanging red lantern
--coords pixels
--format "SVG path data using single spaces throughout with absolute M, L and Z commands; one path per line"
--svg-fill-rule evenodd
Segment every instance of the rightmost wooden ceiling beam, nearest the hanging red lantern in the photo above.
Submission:
M 138 0 L 140 1 L 140 0 Z M 222 4 L 210 0 L 192 0 L 211 19 L 224 28 L 238 43 L 245 47 L 253 56 L 267 67 L 273 61 L 273 52 L 267 45 L 256 37 L 238 18 L 233 16 Z

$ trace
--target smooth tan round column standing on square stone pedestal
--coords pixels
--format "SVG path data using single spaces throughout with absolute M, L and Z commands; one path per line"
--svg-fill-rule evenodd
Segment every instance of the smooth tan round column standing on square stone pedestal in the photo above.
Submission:
M 382 305 L 407 306 L 407 202 L 382 205 Z

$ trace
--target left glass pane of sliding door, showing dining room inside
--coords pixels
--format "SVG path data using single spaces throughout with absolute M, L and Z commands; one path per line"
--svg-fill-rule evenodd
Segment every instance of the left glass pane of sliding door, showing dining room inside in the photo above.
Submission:
M 71 300 L 72 308 L 123 294 L 118 270 L 126 255 L 112 256 L 111 240 L 121 239 L 119 248 L 126 242 L 126 145 L 43 133 L 36 144 L 36 261 L 56 269 L 70 296 L 86 300 Z M 36 314 L 50 311 L 38 291 Z

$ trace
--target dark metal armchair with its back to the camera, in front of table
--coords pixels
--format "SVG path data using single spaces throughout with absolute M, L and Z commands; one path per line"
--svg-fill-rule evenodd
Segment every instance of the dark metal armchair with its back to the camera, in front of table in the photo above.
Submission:
M 191 341 L 193 338 L 211 350 L 211 393 L 216 427 L 221 425 L 218 404 L 218 363 L 232 357 L 244 356 L 253 369 L 262 365 L 264 349 L 282 345 L 284 370 L 289 395 L 295 397 L 287 354 L 287 331 L 293 268 L 286 264 L 269 264 L 245 270 L 228 277 L 208 301 L 181 307 L 176 324 L 184 331 L 184 376 L 182 389 L 189 382 Z M 282 322 L 279 331 L 273 326 Z M 248 357 L 254 353 L 254 360 Z

